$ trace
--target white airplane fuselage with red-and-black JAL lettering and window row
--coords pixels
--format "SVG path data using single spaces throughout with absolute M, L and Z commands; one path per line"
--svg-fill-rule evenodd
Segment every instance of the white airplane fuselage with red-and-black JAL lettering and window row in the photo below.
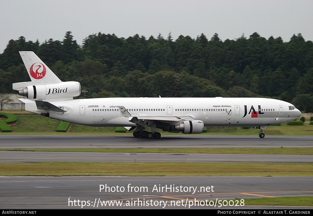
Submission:
M 51 103 L 67 112 L 48 111 L 50 118 L 96 127 L 136 126 L 121 116 L 118 106 L 132 116 L 189 116 L 204 126 L 269 126 L 301 115 L 292 104 L 269 98 L 94 98 Z M 34 103 L 26 105 L 27 111 L 40 114 Z

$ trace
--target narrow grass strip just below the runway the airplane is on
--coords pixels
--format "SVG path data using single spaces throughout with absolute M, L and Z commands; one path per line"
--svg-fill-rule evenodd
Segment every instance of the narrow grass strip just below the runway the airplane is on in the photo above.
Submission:
M 131 148 L 131 149 L 92 148 L 92 149 L 0 149 L 0 151 L 313 155 L 313 148 L 154 148 L 154 149 L 150 149 L 150 148 Z

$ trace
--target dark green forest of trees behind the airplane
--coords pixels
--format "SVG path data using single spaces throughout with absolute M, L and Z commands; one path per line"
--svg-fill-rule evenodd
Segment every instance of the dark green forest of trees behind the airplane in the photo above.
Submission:
M 313 43 L 218 34 L 192 39 L 171 34 L 92 34 L 80 46 L 71 32 L 43 44 L 23 36 L 0 54 L 0 93 L 30 81 L 18 51 L 34 51 L 62 81 L 78 81 L 87 97 L 271 97 L 313 112 Z M 16 93 L 16 92 L 14 92 Z

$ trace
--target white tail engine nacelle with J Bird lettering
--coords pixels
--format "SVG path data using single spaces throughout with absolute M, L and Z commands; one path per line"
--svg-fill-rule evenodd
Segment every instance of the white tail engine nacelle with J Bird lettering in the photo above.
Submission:
M 80 83 L 70 81 L 57 84 L 27 86 L 19 90 L 18 95 L 26 96 L 29 99 L 49 100 L 62 98 L 62 100 L 70 100 L 80 95 Z

